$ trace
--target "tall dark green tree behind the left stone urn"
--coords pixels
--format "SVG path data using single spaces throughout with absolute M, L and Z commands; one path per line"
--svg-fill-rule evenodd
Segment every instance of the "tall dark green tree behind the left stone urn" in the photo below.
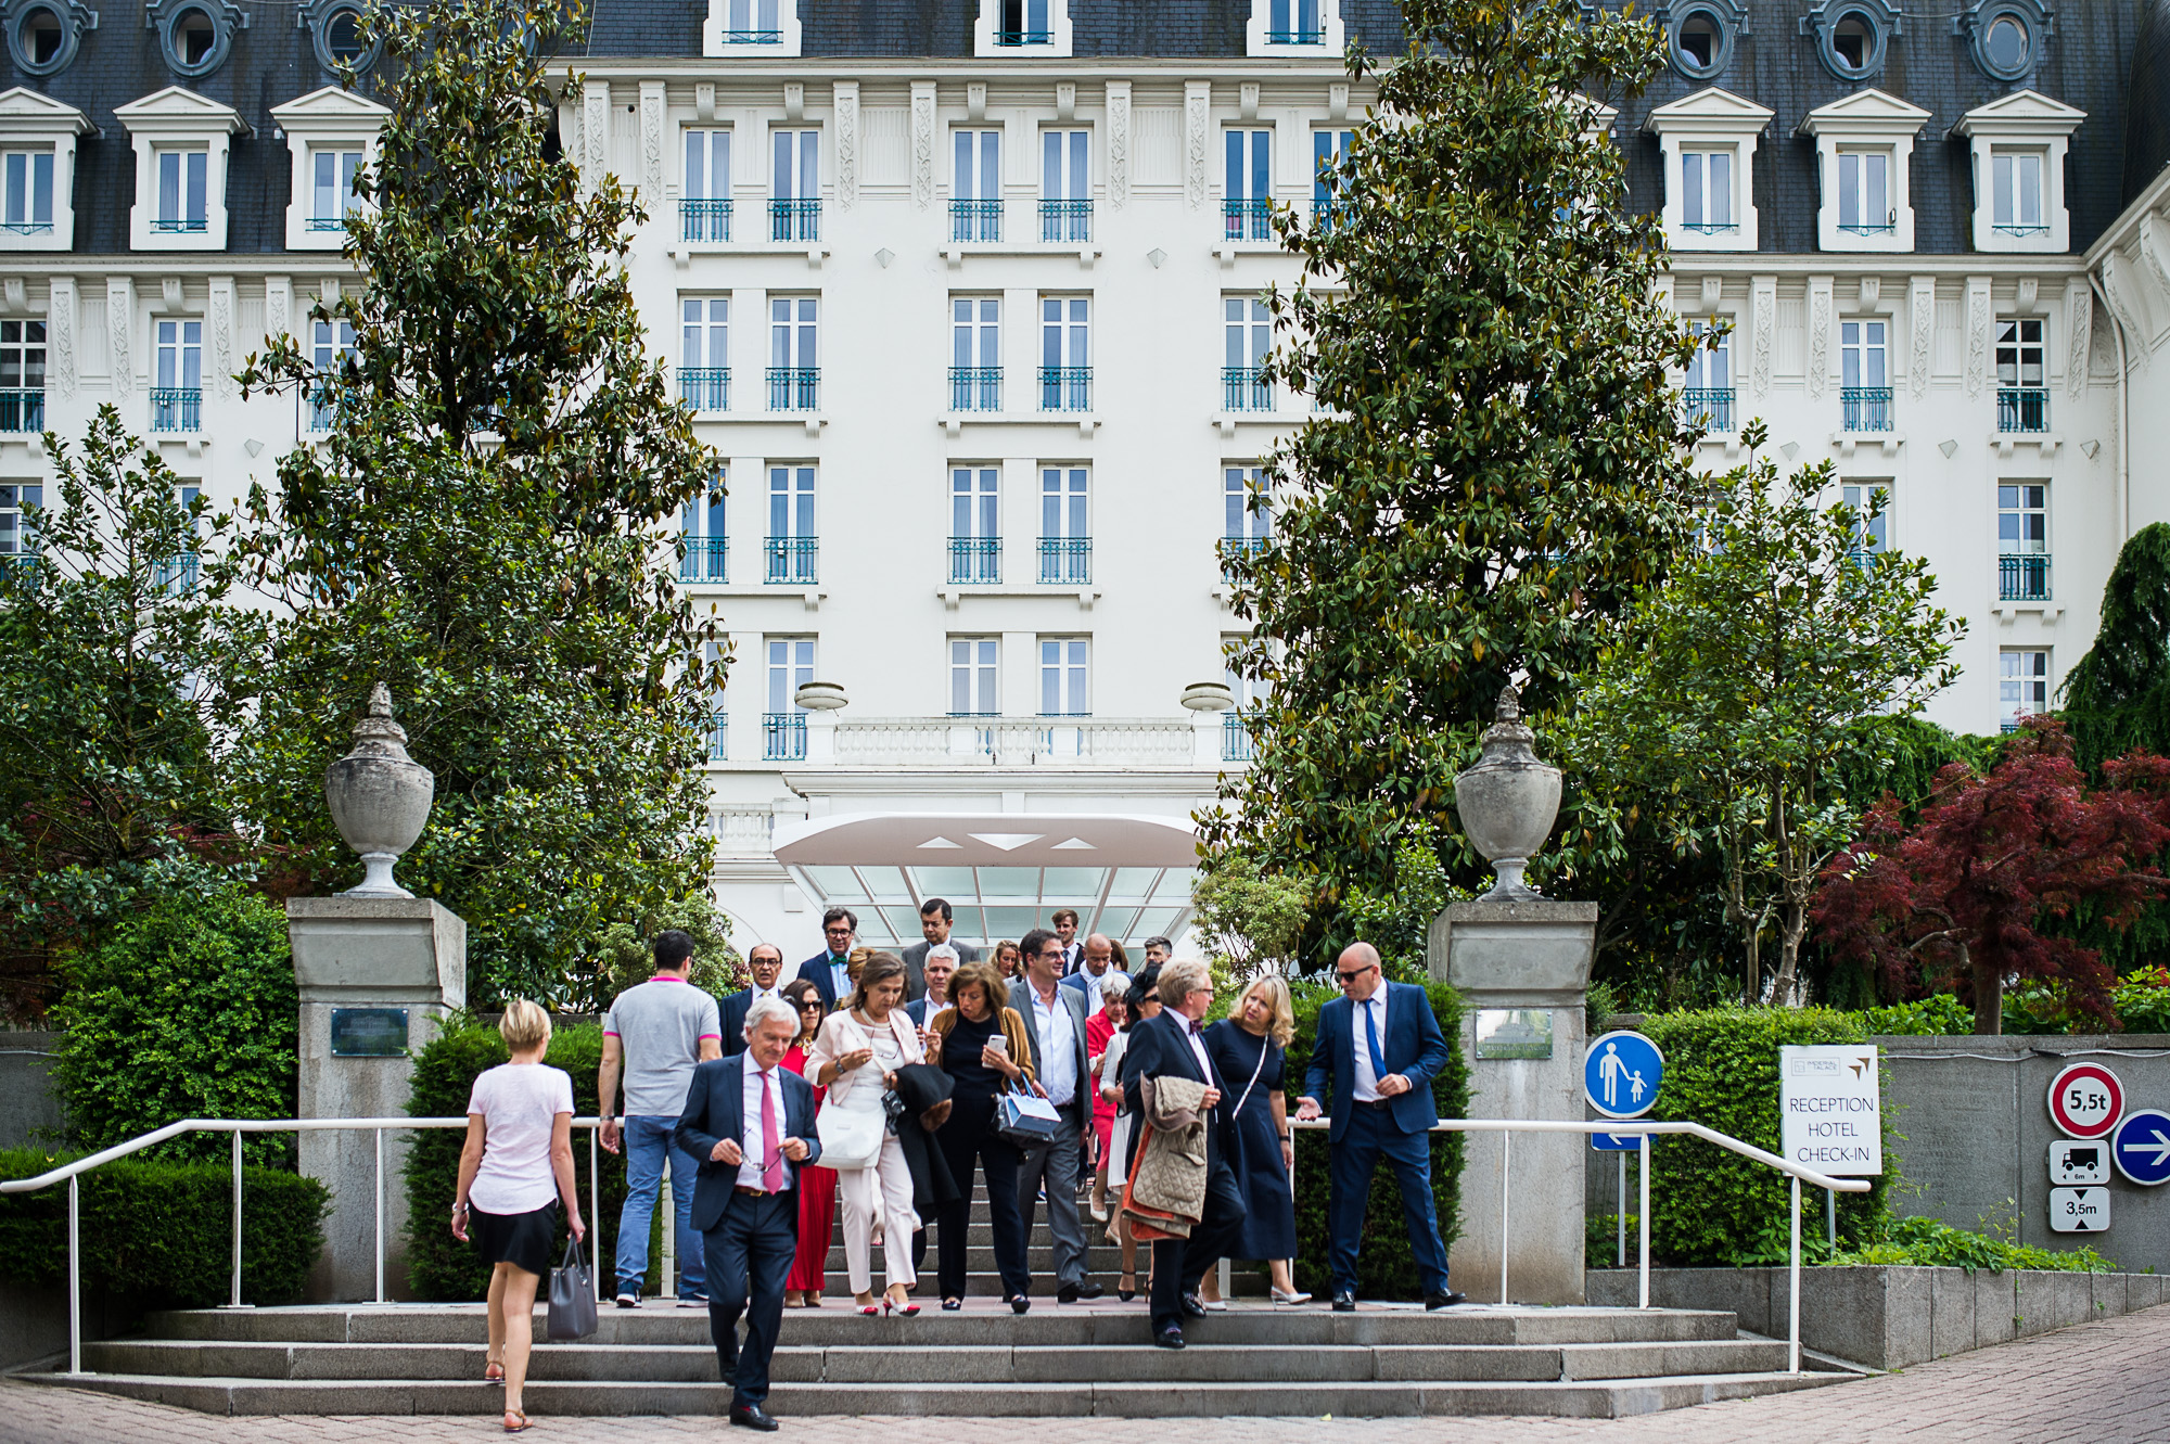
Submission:
M 714 640 L 662 540 L 718 457 L 647 356 L 634 197 L 551 139 L 547 50 L 577 11 L 386 7 L 391 117 L 347 225 L 362 284 L 247 388 L 330 408 L 252 499 L 245 555 L 291 618 L 252 692 L 241 791 L 315 885 L 356 861 L 326 763 L 384 681 L 436 811 L 401 880 L 467 917 L 469 997 L 608 1002 L 597 939 L 707 885 L 699 763 Z M 564 95 L 577 104 L 577 85 Z

